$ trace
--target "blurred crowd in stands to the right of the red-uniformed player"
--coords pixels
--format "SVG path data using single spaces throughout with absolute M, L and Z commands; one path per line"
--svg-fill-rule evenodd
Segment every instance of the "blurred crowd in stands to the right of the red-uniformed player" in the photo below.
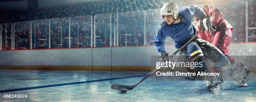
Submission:
M 223 13 L 223 18 L 234 27 L 233 30 L 233 42 L 245 42 L 246 41 L 246 6 L 245 1 L 238 3 L 224 2 L 222 7 L 218 9 Z M 256 27 L 256 0 L 248 0 L 248 28 Z M 254 29 L 256 31 L 256 29 Z M 248 37 L 251 36 L 252 31 L 248 32 Z M 248 38 L 250 39 L 250 38 Z

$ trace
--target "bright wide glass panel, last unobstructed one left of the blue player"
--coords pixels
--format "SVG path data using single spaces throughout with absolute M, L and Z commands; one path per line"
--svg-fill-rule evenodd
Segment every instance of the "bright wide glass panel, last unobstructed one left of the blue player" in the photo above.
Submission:
M 144 11 L 118 13 L 118 46 L 144 44 Z

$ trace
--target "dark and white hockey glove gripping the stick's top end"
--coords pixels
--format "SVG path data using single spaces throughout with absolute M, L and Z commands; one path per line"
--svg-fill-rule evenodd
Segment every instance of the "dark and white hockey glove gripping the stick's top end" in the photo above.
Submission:
M 205 16 L 200 19 L 200 28 L 203 28 L 203 31 L 206 31 L 212 27 L 212 19 L 210 16 Z

